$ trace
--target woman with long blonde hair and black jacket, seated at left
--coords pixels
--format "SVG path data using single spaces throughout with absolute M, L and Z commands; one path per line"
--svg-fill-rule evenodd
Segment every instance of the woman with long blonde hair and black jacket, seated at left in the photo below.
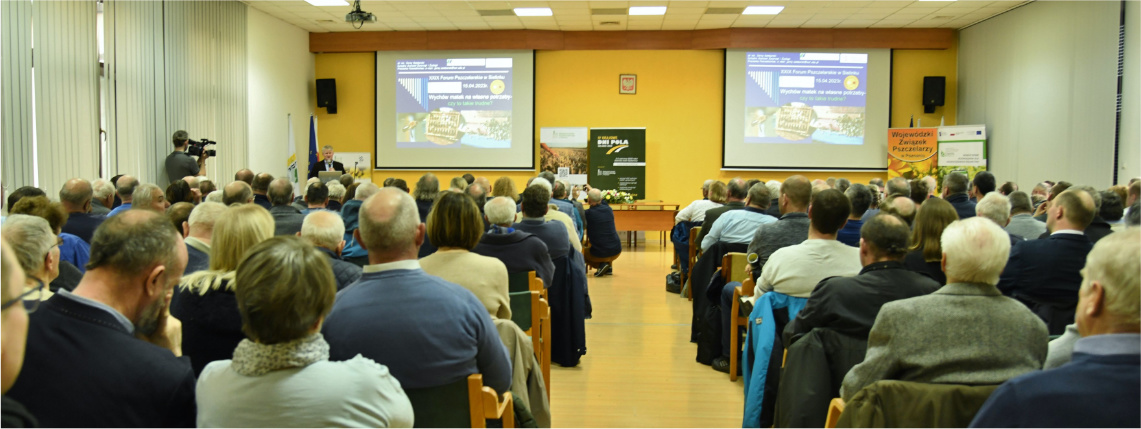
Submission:
M 274 236 L 274 218 L 258 204 L 226 209 L 210 237 L 210 269 L 183 277 L 170 314 L 183 322 L 183 354 L 197 375 L 207 364 L 228 359 L 245 338 L 234 298 L 234 270 L 245 253 Z

